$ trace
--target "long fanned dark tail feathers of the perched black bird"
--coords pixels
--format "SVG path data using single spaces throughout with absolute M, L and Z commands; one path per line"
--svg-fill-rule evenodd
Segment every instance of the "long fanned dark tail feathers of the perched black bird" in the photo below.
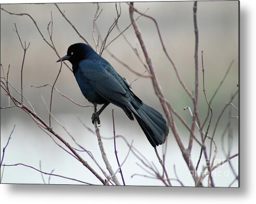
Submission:
M 138 103 L 135 106 L 133 105 L 130 111 L 137 119 L 150 144 L 153 147 L 163 144 L 169 132 L 166 120 L 153 107 L 144 104 L 142 101 L 139 101 L 139 103 L 139 105 Z

